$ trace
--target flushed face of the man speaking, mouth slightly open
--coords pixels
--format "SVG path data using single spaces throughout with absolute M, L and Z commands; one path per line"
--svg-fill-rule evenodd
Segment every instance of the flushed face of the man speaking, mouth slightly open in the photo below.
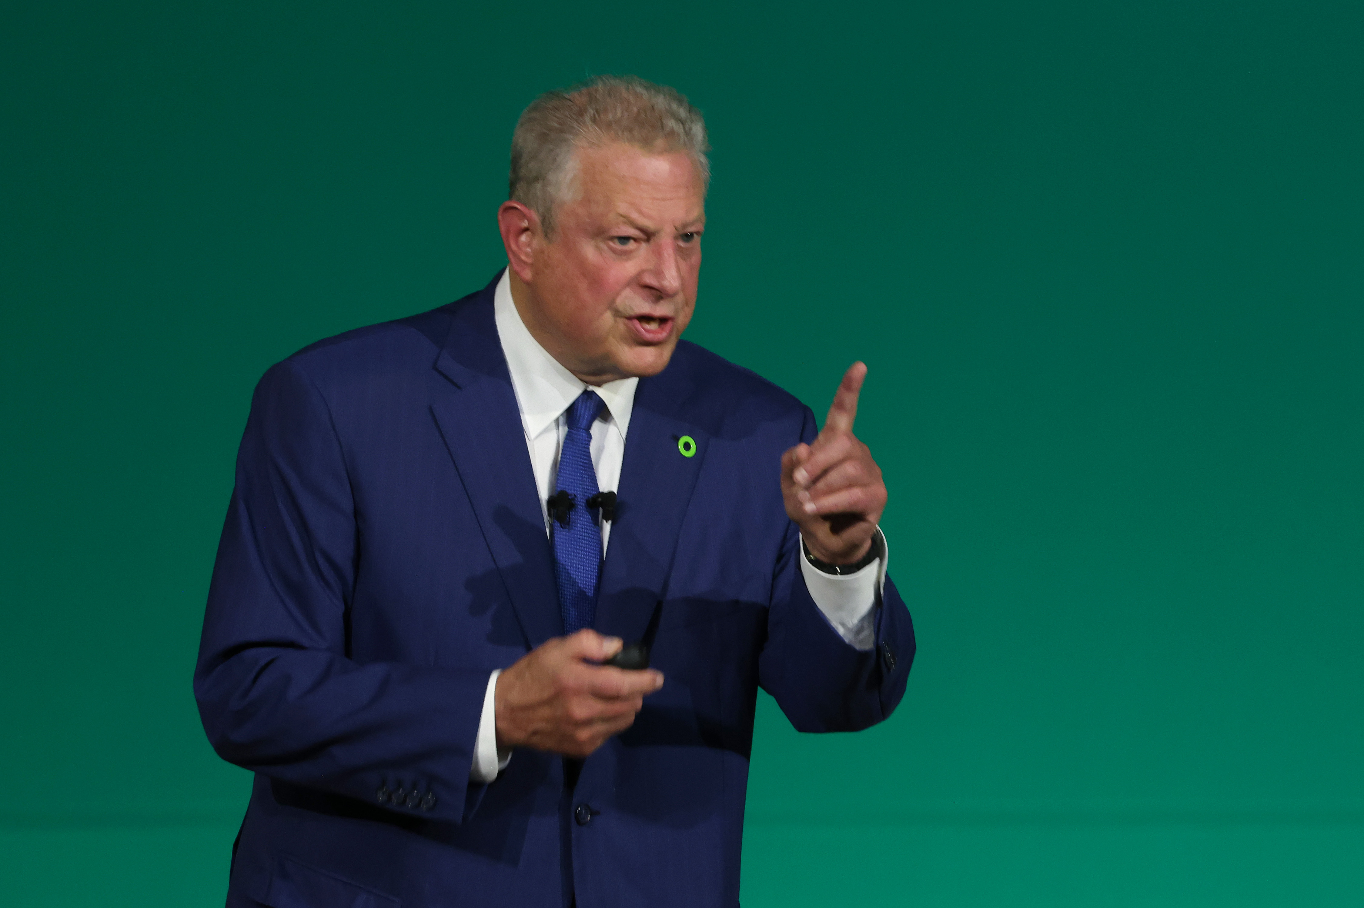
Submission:
M 630 145 L 577 151 L 554 239 L 537 236 L 518 309 L 584 382 L 662 372 L 692 320 L 705 188 L 682 151 Z

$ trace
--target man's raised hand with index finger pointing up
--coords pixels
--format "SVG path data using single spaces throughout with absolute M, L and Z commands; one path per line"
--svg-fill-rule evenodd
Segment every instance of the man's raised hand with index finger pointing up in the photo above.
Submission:
M 810 554 L 831 564 L 851 564 L 866 555 L 885 510 L 881 468 L 853 435 L 865 378 L 865 363 L 850 365 L 814 443 L 782 455 L 786 513 L 801 528 Z

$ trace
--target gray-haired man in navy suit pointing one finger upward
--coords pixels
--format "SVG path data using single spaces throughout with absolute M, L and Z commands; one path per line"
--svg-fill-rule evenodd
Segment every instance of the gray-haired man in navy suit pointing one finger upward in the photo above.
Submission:
M 670 89 L 544 95 L 509 267 L 261 380 L 195 672 L 255 772 L 229 905 L 737 905 L 757 688 L 812 732 L 900 701 L 865 367 L 817 432 L 679 342 L 707 150 Z

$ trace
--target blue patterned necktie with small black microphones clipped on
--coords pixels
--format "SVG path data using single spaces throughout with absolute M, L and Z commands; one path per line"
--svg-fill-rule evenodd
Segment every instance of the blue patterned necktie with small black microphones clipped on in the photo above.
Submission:
M 573 507 L 566 517 L 561 511 L 559 519 L 551 524 L 554 579 L 559 588 L 565 634 L 589 626 L 596 611 L 602 530 L 592 519 L 588 499 L 597 494 L 596 469 L 592 466 L 592 423 L 603 406 L 606 404 L 591 390 L 573 401 L 567 412 L 569 431 L 559 451 L 558 489 L 573 496 Z

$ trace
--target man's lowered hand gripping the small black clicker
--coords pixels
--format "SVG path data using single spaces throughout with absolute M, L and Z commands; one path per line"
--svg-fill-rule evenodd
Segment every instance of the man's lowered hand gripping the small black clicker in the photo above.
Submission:
M 498 675 L 492 693 L 498 750 L 587 757 L 629 728 L 645 694 L 663 687 L 663 674 L 596 664 L 621 646 L 618 637 L 588 627 L 546 641 Z

